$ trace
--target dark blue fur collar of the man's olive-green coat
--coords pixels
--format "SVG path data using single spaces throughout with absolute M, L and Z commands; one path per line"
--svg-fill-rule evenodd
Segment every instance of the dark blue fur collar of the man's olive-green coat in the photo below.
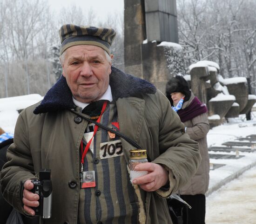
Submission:
M 113 100 L 129 96 L 140 97 L 141 94 L 154 94 L 156 88 L 146 80 L 125 74 L 115 67 L 111 68 L 109 85 Z M 62 109 L 74 109 L 72 93 L 67 86 L 66 78 L 61 78 L 48 90 L 40 105 L 34 109 L 34 114 L 41 114 Z

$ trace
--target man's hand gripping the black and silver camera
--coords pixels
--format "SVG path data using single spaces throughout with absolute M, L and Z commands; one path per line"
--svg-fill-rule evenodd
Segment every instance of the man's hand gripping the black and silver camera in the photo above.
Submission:
M 34 184 L 31 180 L 26 180 L 24 183 L 24 191 L 23 191 L 23 208 L 27 211 L 28 214 L 34 216 L 35 212 L 31 207 L 37 207 L 39 205 L 39 195 L 34 194 L 31 190 L 34 188 Z

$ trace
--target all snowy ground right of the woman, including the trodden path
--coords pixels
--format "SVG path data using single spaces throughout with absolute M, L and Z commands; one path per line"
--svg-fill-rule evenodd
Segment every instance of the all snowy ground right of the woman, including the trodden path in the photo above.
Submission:
M 239 118 L 229 119 L 229 123 L 212 128 L 207 135 L 208 147 L 256 134 L 256 112 L 251 115 L 252 121 L 245 121 L 245 115 L 240 115 Z M 236 155 L 236 152 L 209 153 Z M 239 152 L 239 155 L 244 157 L 210 159 L 210 163 L 225 166 L 210 170 L 206 224 L 256 224 L 256 152 Z

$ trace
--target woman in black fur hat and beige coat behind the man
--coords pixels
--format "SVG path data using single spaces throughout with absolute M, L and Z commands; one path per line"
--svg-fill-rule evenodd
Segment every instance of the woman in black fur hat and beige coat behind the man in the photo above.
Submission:
M 182 76 L 172 77 L 168 81 L 166 96 L 172 109 L 177 112 L 184 123 L 186 133 L 199 144 L 202 156 L 201 164 L 195 175 L 179 191 L 179 194 L 192 206 L 188 211 L 188 224 L 205 224 L 205 192 L 209 186 L 209 154 L 206 139 L 209 131 L 207 107 L 189 90 L 189 84 Z

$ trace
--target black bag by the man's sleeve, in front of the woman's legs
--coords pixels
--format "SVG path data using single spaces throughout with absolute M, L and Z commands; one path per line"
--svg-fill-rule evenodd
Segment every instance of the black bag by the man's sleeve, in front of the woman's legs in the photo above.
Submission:
M 173 224 L 188 224 L 188 209 L 191 206 L 177 194 L 167 198 L 169 213 Z

